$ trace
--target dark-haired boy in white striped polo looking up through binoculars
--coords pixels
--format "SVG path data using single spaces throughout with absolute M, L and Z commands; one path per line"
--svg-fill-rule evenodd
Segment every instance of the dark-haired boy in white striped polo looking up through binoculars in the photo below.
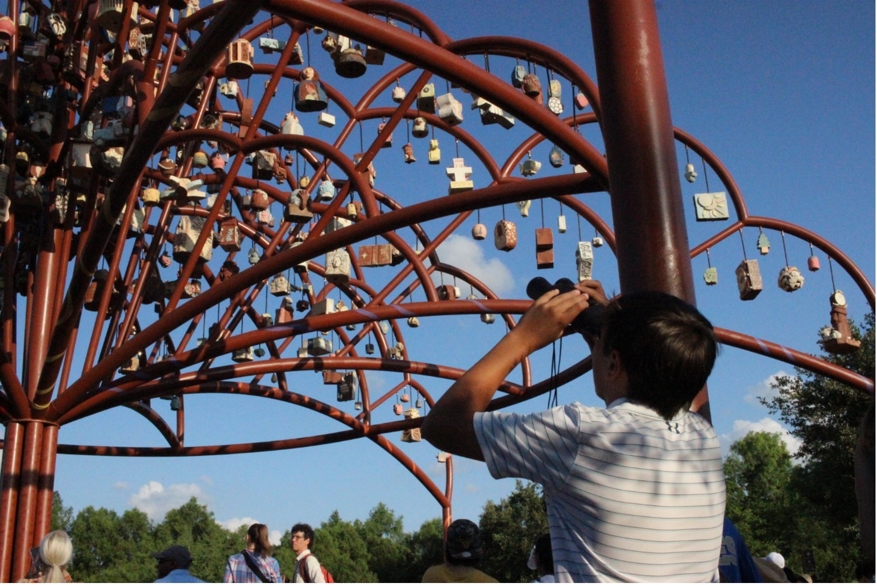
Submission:
M 605 407 L 485 412 L 511 370 L 590 304 L 602 316 L 579 333 Z M 688 303 L 653 292 L 610 302 L 583 280 L 539 297 L 421 430 L 436 448 L 487 462 L 497 479 L 542 484 L 557 581 L 717 581 L 722 454 L 713 427 L 688 410 L 716 355 L 712 325 Z

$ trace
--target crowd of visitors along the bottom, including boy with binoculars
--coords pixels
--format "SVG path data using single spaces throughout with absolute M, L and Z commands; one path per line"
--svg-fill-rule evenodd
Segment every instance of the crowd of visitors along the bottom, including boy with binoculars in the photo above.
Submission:
M 578 319 L 597 306 L 598 319 Z M 496 389 L 533 351 L 567 327 L 591 349 L 596 395 L 605 408 L 579 403 L 530 415 L 487 412 Z M 487 462 L 492 476 L 541 483 L 549 534 L 529 560 L 534 582 L 723 581 L 814 582 L 795 574 L 781 553 L 752 557 L 724 517 L 722 455 L 715 430 L 689 407 L 706 384 L 717 356 L 712 325 L 695 307 L 664 293 L 608 300 L 602 285 L 584 280 L 574 290 L 552 290 L 533 303 L 503 339 L 439 399 L 422 426 L 443 451 Z M 857 493 L 873 527 L 873 407 L 857 455 Z M 860 433 L 862 431 L 860 430 Z M 860 452 L 860 453 L 859 453 Z M 870 459 L 870 462 L 867 460 Z M 870 467 L 869 467 L 870 466 Z M 291 530 L 296 553 L 292 581 L 332 582 L 310 552 L 314 531 Z M 873 582 L 870 558 L 857 577 Z M 863 548 L 867 551 L 867 548 Z M 70 581 L 73 546 L 65 532 L 46 535 L 34 549 L 25 582 Z M 282 582 L 266 525 L 246 532 L 246 548 L 232 554 L 225 582 Z M 448 526 L 445 560 L 424 582 L 496 582 L 478 569 L 484 550 L 478 525 Z M 153 553 L 156 582 L 203 582 L 189 573 L 184 546 Z

